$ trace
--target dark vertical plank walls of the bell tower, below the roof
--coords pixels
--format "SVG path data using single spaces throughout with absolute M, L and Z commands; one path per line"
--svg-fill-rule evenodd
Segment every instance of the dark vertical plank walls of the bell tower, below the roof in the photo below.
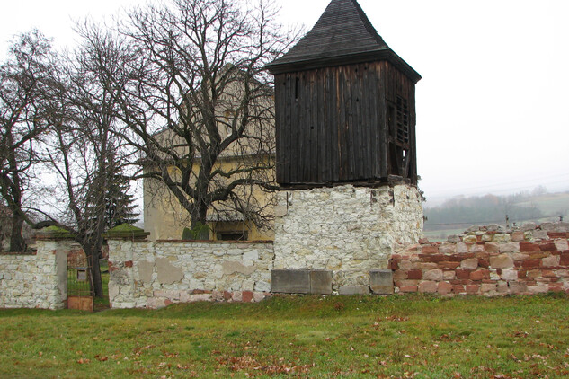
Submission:
M 412 109 L 414 146 L 414 85 L 387 62 L 276 75 L 275 92 L 280 184 L 387 178 L 386 101 L 397 94 Z

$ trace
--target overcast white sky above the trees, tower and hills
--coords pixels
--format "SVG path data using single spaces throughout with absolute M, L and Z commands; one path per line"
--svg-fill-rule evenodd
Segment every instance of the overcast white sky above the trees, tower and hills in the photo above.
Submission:
M 329 0 L 278 0 L 309 30 Z M 134 0 L 6 1 L 0 58 L 37 27 L 72 47 L 73 20 Z M 569 1 L 359 0 L 379 34 L 423 77 L 417 84 L 420 186 L 427 198 L 569 190 Z

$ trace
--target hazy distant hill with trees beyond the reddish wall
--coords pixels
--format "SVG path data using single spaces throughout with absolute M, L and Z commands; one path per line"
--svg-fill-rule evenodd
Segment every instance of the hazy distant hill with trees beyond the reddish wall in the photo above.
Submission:
M 569 221 L 569 191 L 544 193 L 522 192 L 510 196 L 485 195 L 457 197 L 437 207 L 425 207 L 424 232 L 429 237 L 444 239 L 447 235 L 463 232 L 470 225 L 541 223 Z M 432 241 L 436 241 L 431 238 Z

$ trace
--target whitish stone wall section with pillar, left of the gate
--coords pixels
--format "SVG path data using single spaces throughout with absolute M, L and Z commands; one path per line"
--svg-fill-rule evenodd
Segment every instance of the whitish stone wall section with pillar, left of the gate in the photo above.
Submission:
M 65 308 L 70 246 L 38 241 L 36 255 L 0 255 L 0 308 Z

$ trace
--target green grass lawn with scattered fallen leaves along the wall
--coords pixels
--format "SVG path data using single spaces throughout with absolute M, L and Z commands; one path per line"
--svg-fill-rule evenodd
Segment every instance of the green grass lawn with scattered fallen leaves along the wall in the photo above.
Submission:
M 278 296 L 0 311 L 2 378 L 569 377 L 569 299 Z

